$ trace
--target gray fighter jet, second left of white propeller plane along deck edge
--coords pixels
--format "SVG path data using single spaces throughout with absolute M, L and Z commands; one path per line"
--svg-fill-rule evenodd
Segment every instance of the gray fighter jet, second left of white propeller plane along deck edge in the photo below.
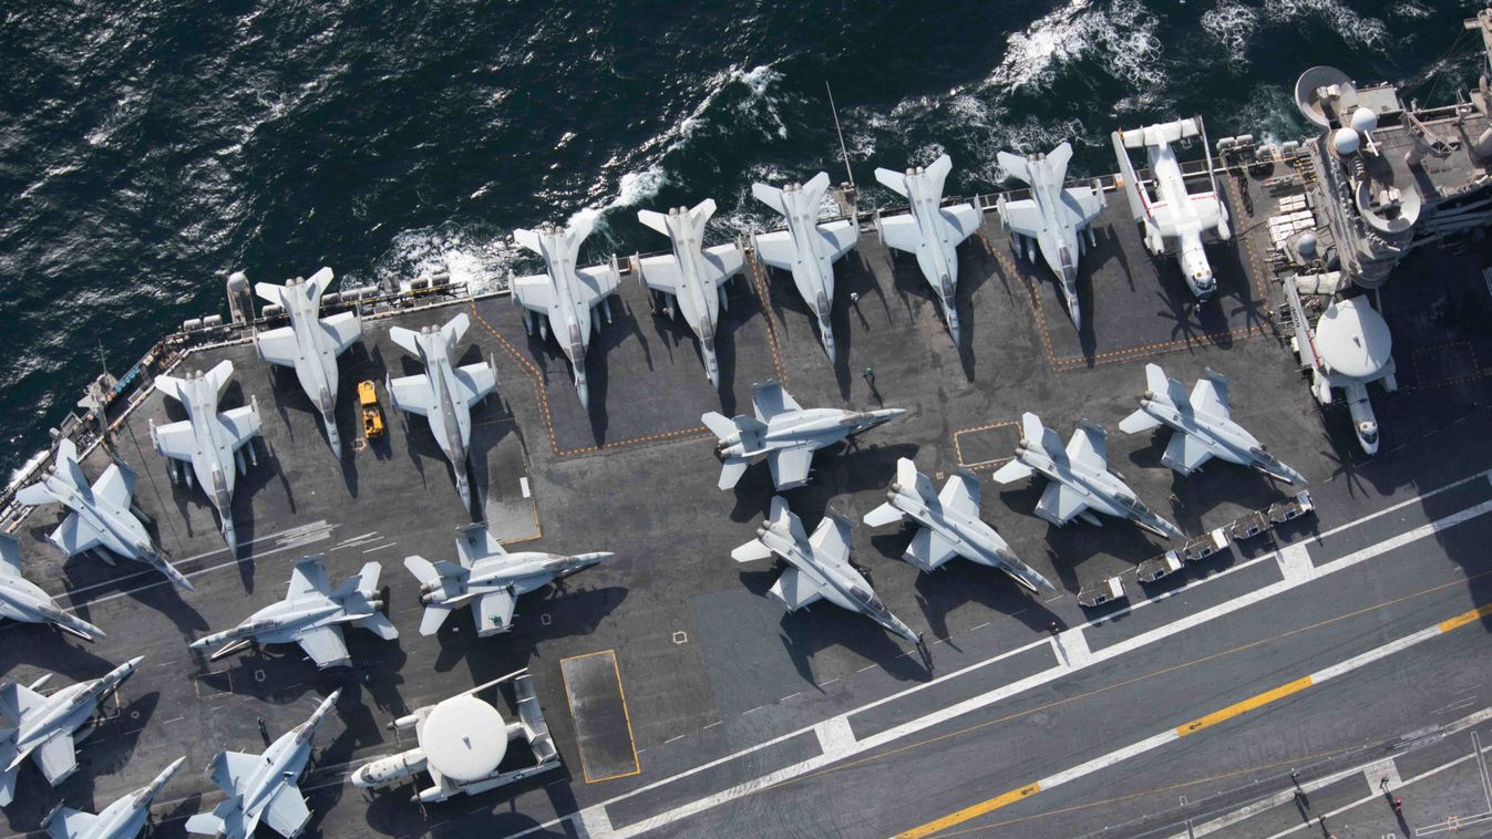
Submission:
M 932 165 L 909 168 L 906 174 L 889 168 L 877 168 L 876 180 L 886 189 L 904 195 L 912 203 L 912 213 L 879 219 L 880 240 L 886 247 L 915 253 L 922 276 L 932 285 L 938 303 L 943 304 L 943 319 L 958 344 L 958 243 L 974 235 L 983 221 L 977 203 L 943 207 L 943 182 L 953 168 L 947 155 L 940 155 Z

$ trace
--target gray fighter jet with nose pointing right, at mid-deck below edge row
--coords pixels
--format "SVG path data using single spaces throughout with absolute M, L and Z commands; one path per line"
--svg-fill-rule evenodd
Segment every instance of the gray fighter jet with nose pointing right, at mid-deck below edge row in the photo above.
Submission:
M 721 489 L 742 480 L 752 459 L 765 455 L 771 466 L 771 483 L 779 489 L 795 489 L 809 483 L 813 453 L 846 437 L 870 431 L 907 413 L 903 408 L 879 411 L 846 411 L 841 408 L 804 410 L 773 380 L 752 387 L 752 408 L 756 416 L 725 416 L 710 411 L 700 417 L 718 437 L 715 453 L 722 460 Z

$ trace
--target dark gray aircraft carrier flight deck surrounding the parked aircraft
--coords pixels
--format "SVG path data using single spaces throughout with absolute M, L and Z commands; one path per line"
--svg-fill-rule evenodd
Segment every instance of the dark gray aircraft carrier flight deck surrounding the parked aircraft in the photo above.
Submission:
M 1449 137 L 1455 125 L 1459 156 L 1437 156 L 1437 177 L 1470 180 L 1468 170 L 1483 164 L 1467 148 L 1488 127 L 1485 104 L 1477 107 L 1398 124 L 1385 107 L 1376 131 L 1402 153 L 1407 146 L 1394 143 L 1408 131 Z M 54 793 L 22 767 L 9 832 L 37 830 L 60 796 L 70 806 L 103 806 L 185 756 L 155 806 L 155 835 L 185 835 L 186 817 L 222 799 L 200 772 L 216 751 L 258 753 L 266 736 L 301 723 L 337 688 L 301 781 L 315 814 L 310 833 L 328 838 L 871 836 L 924 827 L 915 835 L 1131 836 L 1212 823 L 1219 835 L 1256 836 L 1294 830 L 1300 820 L 1285 817 L 1298 809 L 1295 799 L 1268 799 L 1292 782 L 1306 785 L 1310 818 L 1331 811 L 1334 823 L 1379 824 L 1379 815 L 1350 809 L 1373 793 L 1362 766 L 1399 760 L 1395 782 L 1413 790 L 1411 766 L 1434 766 L 1417 747 L 1444 748 L 1435 744 L 1486 732 L 1492 720 L 1476 717 L 1492 706 L 1480 626 L 1492 574 L 1483 516 L 1492 510 L 1492 286 L 1483 280 L 1492 244 L 1443 229 L 1443 240 L 1398 255 L 1389 279 L 1368 292 L 1392 329 L 1397 367 L 1397 390 L 1371 392 L 1383 443 L 1368 455 L 1349 408 L 1313 395 L 1300 343 L 1310 341 L 1325 304 L 1303 295 L 1297 277 L 1307 271 L 1280 256 L 1280 219 L 1304 207 L 1313 213 L 1306 227 L 1322 240 L 1316 247 L 1334 244 L 1352 262 L 1350 225 L 1334 221 L 1317 188 L 1329 177 L 1316 167 L 1329 167 L 1332 152 L 1326 140 L 1264 153 L 1229 140 L 1214 168 L 1232 235 L 1204 237 L 1216 292 L 1198 301 L 1177 261 L 1147 250 L 1123 177 L 1104 177 L 1103 215 L 1077 273 L 1080 329 L 1052 271 L 1028 259 L 986 198 L 976 204 L 977 232 L 958 247 L 956 344 L 916 259 L 882 244 L 877 215 L 859 212 L 858 244 L 836 264 L 836 361 L 789 274 L 746 247 L 715 337 L 718 389 L 694 332 L 662 311 L 625 256 L 610 319 L 597 311 L 583 359 L 588 407 L 560 346 L 525 329 L 506 291 L 422 282 L 346 295 L 324 307 L 361 314 L 361 341 L 340 358 L 340 459 L 294 371 L 257 353 L 255 332 L 283 325 L 282 314 L 173 335 L 107 407 L 107 449 L 88 419 L 64 434 L 88 444 L 81 450 L 90 477 L 109 465 L 110 450 L 131 465 L 134 504 L 195 592 L 127 560 L 63 560 L 48 544 L 61 520 L 55 507 L 10 505 L 3 520 L 21 542 L 25 575 L 109 633 L 84 644 L 7 623 L 7 680 L 30 684 L 55 672 L 81 681 L 145 656 L 81 741 L 75 776 Z M 1191 158 L 1198 155 L 1194 146 Z M 1194 194 L 1209 179 L 1206 167 L 1188 167 Z M 837 198 L 852 206 L 853 192 L 841 188 Z M 1371 265 L 1358 268 L 1371 274 Z M 397 410 L 385 389 L 389 377 L 422 370 L 389 328 L 439 328 L 458 313 L 471 325 L 454 364 L 488 361 L 498 371 L 495 392 L 471 408 L 468 510 L 430 423 Z M 221 361 L 234 367 L 221 410 L 257 401 L 263 416 L 254 462 L 233 496 L 236 554 L 207 496 L 173 480 L 152 450 L 152 422 L 185 419 L 152 380 Z M 1146 390 L 1147 364 L 1188 384 L 1209 368 L 1226 376 L 1232 419 L 1304 474 L 1313 510 L 1270 522 L 1268 511 L 1288 507 L 1301 487 L 1216 460 L 1183 477 L 1161 463 L 1165 429 L 1119 432 Z M 716 441 L 701 414 L 750 413 L 752 386 L 767 380 L 807 407 L 907 411 L 819 452 L 809 484 L 782 495 L 810 531 L 831 511 L 853 522 L 853 563 L 925 648 L 828 604 L 786 612 L 764 596 L 780 563 L 731 560 L 733 548 L 755 538 L 773 478 L 758 463 L 719 490 Z M 376 383 L 382 435 L 364 431 L 360 381 Z M 1120 519 L 1058 528 L 1034 516 L 1041 480 L 991 480 L 1016 452 L 1024 411 L 1064 440 L 1085 419 L 1106 426 L 1109 466 L 1188 539 Z M 903 562 L 915 526 L 861 522 L 886 499 L 900 458 L 938 486 L 973 475 L 982 517 L 1056 592 L 1034 595 L 958 559 L 932 574 Z M 486 522 L 509 550 L 615 557 L 519 598 L 509 633 L 477 638 L 463 608 L 422 636 L 419 583 L 403 560 L 454 560 L 457 529 L 473 522 Z M 1250 522 L 1264 532 L 1247 532 Z M 1222 547 L 1213 556 L 1165 565 L 1167 551 L 1214 534 Z M 222 660 L 188 648 L 278 602 L 307 554 L 322 554 L 333 580 L 380 562 L 398 639 L 349 629 L 352 665 L 325 671 L 294 644 Z M 1112 593 L 1110 584 L 1122 596 L 1079 604 Z M 1292 688 L 1298 700 L 1279 709 L 1240 709 L 1277 684 L 1379 654 L 1467 610 L 1482 610 L 1470 618 L 1476 629 L 1446 630 L 1413 659 L 1341 665 L 1331 671 L 1340 681 Z M 394 720 L 524 669 L 560 753 L 557 769 L 427 805 L 410 800 L 413 782 L 372 793 L 346 782 L 369 760 L 409 748 Z M 1273 717 L 1261 721 L 1265 714 Z M 1203 723 L 1182 744 L 1123 751 L 1194 720 Z M 1431 729 L 1443 736 L 1405 739 Z M 1485 760 L 1480 745 L 1473 751 Z M 1292 769 L 1304 775 L 1289 778 Z M 1049 778 L 1062 784 L 1038 782 Z M 1470 812 L 1456 800 L 1441 809 Z M 1431 824 L 1446 814 L 1420 815 Z M 1380 821 L 1392 827 L 1392 817 Z

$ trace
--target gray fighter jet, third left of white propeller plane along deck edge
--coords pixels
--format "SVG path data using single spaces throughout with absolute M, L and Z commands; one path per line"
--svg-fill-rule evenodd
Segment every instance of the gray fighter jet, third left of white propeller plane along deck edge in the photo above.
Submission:
M 809 304 L 819 322 L 824 352 L 828 353 L 830 364 L 834 364 L 834 325 L 830 322 L 834 310 L 834 262 L 855 247 L 859 225 L 855 219 L 816 224 L 819 204 L 828 188 L 830 176 L 821 171 L 801 186 L 789 183 L 777 189 L 752 183 L 750 194 L 782 213 L 788 222 L 788 229 L 756 235 L 756 258 L 773 268 L 792 271 L 792 282 L 798 286 L 803 303 Z

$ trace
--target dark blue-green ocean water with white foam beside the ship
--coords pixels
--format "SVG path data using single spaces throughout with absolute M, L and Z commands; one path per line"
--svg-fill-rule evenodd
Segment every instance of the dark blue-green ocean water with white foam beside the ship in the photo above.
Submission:
M 343 283 L 534 264 L 515 227 L 600 213 L 583 256 L 659 250 L 636 209 L 713 197 L 719 237 L 770 221 L 749 185 L 1201 113 L 1295 137 L 1297 75 L 1443 103 L 1476 82 L 1476 4 L 1428 0 L 0 4 L 0 478 L 81 387 L 243 270 Z

